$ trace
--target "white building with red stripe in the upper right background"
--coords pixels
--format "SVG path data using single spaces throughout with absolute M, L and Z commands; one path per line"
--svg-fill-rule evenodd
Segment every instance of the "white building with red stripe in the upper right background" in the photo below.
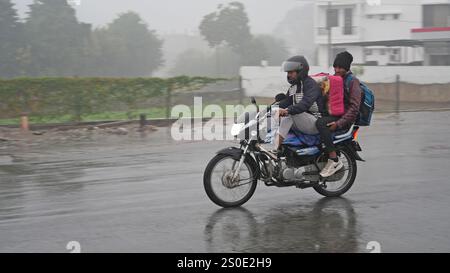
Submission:
M 348 50 L 356 64 L 450 65 L 447 27 L 450 0 L 317 1 L 318 63 L 331 65 L 336 53 Z

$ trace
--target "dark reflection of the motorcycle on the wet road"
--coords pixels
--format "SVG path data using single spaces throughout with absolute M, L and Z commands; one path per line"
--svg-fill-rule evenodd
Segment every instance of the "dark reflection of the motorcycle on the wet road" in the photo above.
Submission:
M 220 209 L 205 227 L 208 252 L 357 252 L 357 238 L 356 214 L 345 198 L 275 207 L 263 217 Z

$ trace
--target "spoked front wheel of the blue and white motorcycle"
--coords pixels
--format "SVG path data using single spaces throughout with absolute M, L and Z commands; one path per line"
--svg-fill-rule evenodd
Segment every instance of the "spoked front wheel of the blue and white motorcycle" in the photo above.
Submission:
M 218 154 L 206 166 L 203 186 L 209 199 L 216 205 L 239 207 L 255 193 L 258 179 L 249 160 L 244 160 L 236 174 L 238 165 L 239 161 L 230 155 Z

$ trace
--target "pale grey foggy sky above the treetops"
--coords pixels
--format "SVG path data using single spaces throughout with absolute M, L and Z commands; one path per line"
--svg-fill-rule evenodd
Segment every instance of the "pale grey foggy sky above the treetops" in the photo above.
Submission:
M 63 1 L 63 0 L 62 0 Z M 218 4 L 236 0 L 80 0 L 76 7 L 80 21 L 94 27 L 111 22 L 118 13 L 138 12 L 159 34 L 192 34 L 198 31 L 203 16 Z M 286 13 L 302 5 L 297 0 L 241 0 L 246 7 L 252 33 L 272 33 Z M 13 0 L 21 17 L 32 0 Z

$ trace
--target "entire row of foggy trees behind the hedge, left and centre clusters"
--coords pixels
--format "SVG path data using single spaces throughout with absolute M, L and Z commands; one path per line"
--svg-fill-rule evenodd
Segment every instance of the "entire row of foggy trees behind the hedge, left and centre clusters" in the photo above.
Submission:
M 94 29 L 67 1 L 35 0 L 20 20 L 11 0 L 0 0 L 0 22 L 0 78 L 150 77 L 164 65 L 164 41 L 134 12 Z M 283 40 L 251 33 L 239 2 L 205 15 L 199 31 L 211 50 L 179 45 L 168 74 L 237 76 L 242 65 L 279 65 L 289 54 Z

